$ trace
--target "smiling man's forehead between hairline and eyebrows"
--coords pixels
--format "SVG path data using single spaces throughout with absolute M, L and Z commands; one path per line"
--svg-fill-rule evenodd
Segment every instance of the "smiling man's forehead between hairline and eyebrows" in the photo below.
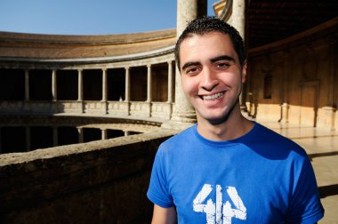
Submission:
M 229 35 L 221 32 L 209 32 L 203 35 L 193 34 L 181 42 L 180 62 L 189 60 L 212 59 L 228 55 L 237 59 L 237 52 Z

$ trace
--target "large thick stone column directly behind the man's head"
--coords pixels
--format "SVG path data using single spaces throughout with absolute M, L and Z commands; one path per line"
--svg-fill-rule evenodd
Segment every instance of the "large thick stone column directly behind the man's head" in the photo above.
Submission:
M 177 38 L 181 36 L 189 21 L 198 16 L 206 15 L 206 0 L 177 0 Z M 165 128 L 184 129 L 196 123 L 195 109 L 189 104 L 181 88 L 181 74 L 176 68 L 175 104 L 170 123 Z

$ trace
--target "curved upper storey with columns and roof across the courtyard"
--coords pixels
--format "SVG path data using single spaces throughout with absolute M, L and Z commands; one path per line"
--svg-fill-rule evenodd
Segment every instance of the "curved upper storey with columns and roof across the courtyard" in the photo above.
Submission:
M 168 120 L 175 34 L 174 29 L 125 36 L 0 33 L 0 111 Z

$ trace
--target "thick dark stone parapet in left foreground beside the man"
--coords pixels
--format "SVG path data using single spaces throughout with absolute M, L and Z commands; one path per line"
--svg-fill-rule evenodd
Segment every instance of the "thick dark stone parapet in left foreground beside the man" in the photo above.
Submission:
M 0 155 L 1 223 L 149 223 L 146 197 L 159 129 Z

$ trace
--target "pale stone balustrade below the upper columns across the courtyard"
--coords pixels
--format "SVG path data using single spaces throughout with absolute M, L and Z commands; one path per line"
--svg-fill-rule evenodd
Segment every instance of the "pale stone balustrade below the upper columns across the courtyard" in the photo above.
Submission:
M 173 104 L 144 101 L 0 101 L 1 114 L 85 114 L 88 116 L 134 116 L 169 120 Z

